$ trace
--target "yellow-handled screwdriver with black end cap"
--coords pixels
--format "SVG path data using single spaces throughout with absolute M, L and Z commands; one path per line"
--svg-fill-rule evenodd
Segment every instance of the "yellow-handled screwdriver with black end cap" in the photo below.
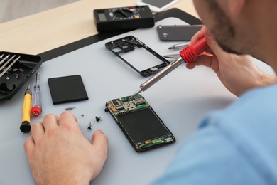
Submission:
M 25 91 L 24 100 L 23 100 L 23 111 L 22 111 L 22 122 L 20 130 L 23 133 L 28 133 L 31 130 L 30 116 L 31 116 L 31 103 L 32 103 L 32 92 L 30 89 L 30 84 L 28 84 Z

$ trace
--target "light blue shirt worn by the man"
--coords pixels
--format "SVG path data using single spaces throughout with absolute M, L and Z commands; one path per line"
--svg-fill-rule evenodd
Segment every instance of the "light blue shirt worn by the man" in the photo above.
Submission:
M 277 85 L 207 115 L 153 184 L 277 184 Z

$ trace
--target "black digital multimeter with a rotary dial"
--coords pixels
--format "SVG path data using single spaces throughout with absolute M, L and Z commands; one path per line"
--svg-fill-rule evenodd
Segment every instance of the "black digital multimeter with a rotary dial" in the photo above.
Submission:
M 93 13 L 98 32 L 126 31 L 155 25 L 154 16 L 148 6 L 94 9 Z

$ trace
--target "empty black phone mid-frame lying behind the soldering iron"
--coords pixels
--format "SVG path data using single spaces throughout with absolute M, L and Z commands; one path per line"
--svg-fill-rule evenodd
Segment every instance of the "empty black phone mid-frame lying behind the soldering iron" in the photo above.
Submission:
M 170 64 L 168 60 L 134 36 L 110 41 L 105 46 L 143 76 L 153 75 Z

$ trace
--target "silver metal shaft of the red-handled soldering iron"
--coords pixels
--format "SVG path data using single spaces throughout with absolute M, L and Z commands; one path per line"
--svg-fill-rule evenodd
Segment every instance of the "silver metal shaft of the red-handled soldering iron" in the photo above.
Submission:
M 133 99 L 133 97 L 141 91 L 146 91 L 148 88 L 150 88 L 152 85 L 158 82 L 158 80 L 161 80 L 165 75 L 168 75 L 171 71 L 173 71 L 175 68 L 177 68 L 179 65 L 181 65 L 184 62 L 183 58 L 180 57 L 177 60 L 175 60 L 173 63 L 170 63 L 170 65 L 166 66 L 163 70 L 161 70 L 158 74 L 154 75 L 152 78 L 146 80 L 146 82 L 142 83 L 139 88 L 140 90 L 136 91 L 134 95 L 131 95 L 130 99 Z

